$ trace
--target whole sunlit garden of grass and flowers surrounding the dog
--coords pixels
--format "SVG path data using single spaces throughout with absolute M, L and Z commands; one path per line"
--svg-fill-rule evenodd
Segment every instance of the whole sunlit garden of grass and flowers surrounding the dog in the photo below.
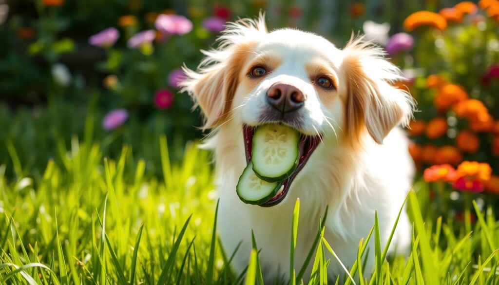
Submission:
M 1 283 L 251 283 L 214 234 L 201 116 L 177 84 L 260 10 L 338 47 L 365 33 L 419 103 L 412 255 L 361 253 L 370 282 L 499 283 L 498 1 L 0 0 Z

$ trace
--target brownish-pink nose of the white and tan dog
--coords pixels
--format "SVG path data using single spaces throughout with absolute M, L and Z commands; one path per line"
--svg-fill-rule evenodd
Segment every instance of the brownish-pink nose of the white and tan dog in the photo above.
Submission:
M 295 86 L 278 82 L 268 88 L 267 101 L 276 110 L 287 113 L 301 108 L 305 96 Z

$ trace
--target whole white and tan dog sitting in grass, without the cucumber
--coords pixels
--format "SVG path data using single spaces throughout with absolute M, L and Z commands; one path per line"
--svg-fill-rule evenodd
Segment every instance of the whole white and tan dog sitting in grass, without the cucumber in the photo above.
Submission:
M 204 147 L 213 150 L 216 161 L 218 231 L 228 255 L 241 243 L 232 262 L 237 274 L 248 265 L 253 231 L 264 279 L 290 278 L 296 199 L 296 271 L 313 245 L 326 206 L 324 237 L 345 266 L 357 259 L 359 241 L 372 228 L 375 211 L 384 245 L 414 174 L 408 138 L 399 125 L 411 120 L 415 101 L 392 84 L 404 79 L 399 68 L 361 36 L 352 36 L 339 49 L 310 32 L 269 32 L 262 14 L 227 23 L 218 41 L 217 48 L 202 50 L 206 57 L 197 70 L 184 66 L 181 85 L 201 108 L 203 128 L 211 129 Z M 236 194 L 247 166 L 245 140 L 254 127 L 266 123 L 299 131 L 307 140 L 300 148 L 304 159 L 280 193 L 263 205 L 248 205 Z M 407 249 L 410 233 L 403 212 L 391 248 Z M 369 248 L 373 251 L 373 244 Z M 369 262 L 366 272 L 373 266 Z M 305 280 L 310 271 L 311 263 Z M 344 274 L 331 259 L 328 275 Z

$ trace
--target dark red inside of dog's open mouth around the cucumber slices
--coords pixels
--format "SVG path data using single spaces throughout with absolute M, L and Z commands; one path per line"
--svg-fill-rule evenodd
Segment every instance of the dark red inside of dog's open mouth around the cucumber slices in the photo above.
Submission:
M 249 163 L 251 160 L 251 149 L 253 147 L 253 135 L 255 128 L 256 127 L 248 125 L 243 126 L 246 163 Z M 270 198 L 270 200 L 268 200 L 263 204 L 259 204 L 258 206 L 271 207 L 279 204 L 286 197 L 287 192 L 289 191 L 289 187 L 291 186 L 291 183 L 293 182 L 294 178 L 303 169 L 308 159 L 310 158 L 310 155 L 312 155 L 313 151 L 317 148 L 321 140 L 322 138 L 320 136 L 307 136 L 300 134 L 300 142 L 298 145 L 299 158 L 296 169 L 289 175 L 289 177 L 287 177 L 284 180 L 281 189 L 277 192 L 277 194 L 274 197 Z

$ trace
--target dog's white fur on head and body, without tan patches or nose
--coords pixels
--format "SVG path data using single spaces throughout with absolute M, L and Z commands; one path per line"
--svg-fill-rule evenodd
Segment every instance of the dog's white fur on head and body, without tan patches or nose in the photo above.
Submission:
M 383 58 L 379 48 L 369 44 L 361 41 L 356 43 L 357 47 L 363 48 L 363 53 L 353 47 L 340 50 L 320 36 L 294 29 L 267 33 L 260 16 L 256 21 L 246 19 L 229 24 L 221 36 L 219 48 L 204 52 L 207 58 L 198 71 L 186 68 L 189 78 L 183 82 L 184 90 L 196 100 L 199 100 L 199 96 L 206 96 L 194 91 L 199 80 L 210 72 L 217 72 L 217 68 L 227 64 L 238 46 L 248 42 L 253 42 L 251 47 L 248 44 L 248 52 L 252 55 L 248 64 L 241 66 L 243 72 L 252 60 L 263 55 L 276 56 L 281 63 L 249 93 L 245 91 L 246 79 L 240 82 L 233 94 L 230 117 L 218 124 L 205 143 L 205 147 L 215 153 L 220 196 L 219 232 L 224 248 L 231 255 L 242 242 L 232 264 L 236 272 L 240 273 L 248 264 L 253 230 L 258 248 L 261 248 L 259 259 L 265 280 L 271 281 L 281 276 L 289 278 L 291 216 L 294 203 L 299 198 L 301 207 L 295 268 L 301 268 L 327 205 L 329 212 L 325 238 L 341 261 L 351 266 L 356 260 L 360 239 L 368 234 L 374 223 L 375 211 L 379 215 L 382 245 L 388 239 L 411 187 L 414 167 L 403 132 L 395 128 L 385 137 L 377 125 L 379 122 L 376 116 L 379 114 L 369 113 L 372 110 L 366 110 L 365 116 L 366 120 L 375 118 L 366 121 L 367 127 L 373 130 L 361 133 L 358 148 L 345 143 L 344 128 L 348 111 L 345 111 L 340 98 L 349 92 L 345 86 L 346 81 L 351 79 L 344 75 L 343 60 L 347 56 L 359 59 L 364 73 L 371 80 L 370 84 L 374 84 L 367 87 L 370 94 L 365 95 L 372 96 L 377 109 L 386 113 L 392 110 L 385 103 L 396 102 L 403 110 L 399 122 L 405 123 L 411 116 L 412 101 L 407 93 L 389 85 L 401 78 L 400 71 Z M 327 95 L 319 94 L 320 87 L 310 82 L 305 69 L 305 65 L 312 60 L 320 60 L 330 68 L 338 83 L 337 90 L 327 91 Z M 275 82 L 294 84 L 306 94 L 305 105 L 297 114 L 303 119 L 303 125 L 297 129 L 309 135 L 321 134 L 323 141 L 292 182 L 286 198 L 276 206 L 262 208 L 244 204 L 236 194 L 238 178 L 246 167 L 242 124 L 261 124 L 260 114 L 269 108 L 265 101 L 266 91 Z M 213 99 L 214 104 L 225 103 L 216 102 L 216 99 Z M 329 103 L 325 104 L 324 101 Z M 211 121 L 216 120 L 211 118 Z M 381 137 L 381 140 L 384 137 L 383 144 L 377 144 L 374 137 Z M 397 245 L 401 251 L 410 244 L 410 224 L 405 213 L 397 228 L 392 245 Z M 373 245 L 370 249 L 372 261 Z M 373 263 L 369 263 L 367 270 L 372 270 L 372 266 Z M 305 279 L 310 274 L 310 268 L 311 264 Z M 339 264 L 332 259 L 329 276 L 343 274 Z

